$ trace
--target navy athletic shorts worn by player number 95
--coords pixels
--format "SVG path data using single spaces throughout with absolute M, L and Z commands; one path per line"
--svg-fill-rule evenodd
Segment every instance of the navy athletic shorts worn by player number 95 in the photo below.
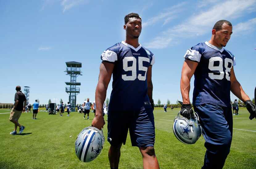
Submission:
M 142 107 L 138 111 L 108 112 L 108 141 L 111 145 L 125 144 L 128 129 L 132 146 L 154 146 L 155 122 L 153 109 Z

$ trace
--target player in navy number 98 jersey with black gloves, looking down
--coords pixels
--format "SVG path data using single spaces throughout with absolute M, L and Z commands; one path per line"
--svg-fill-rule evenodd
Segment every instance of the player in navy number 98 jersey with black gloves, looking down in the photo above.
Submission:
M 206 153 L 202 168 L 222 168 L 230 151 L 233 119 L 230 91 L 246 104 L 250 120 L 256 108 L 237 81 L 233 66 L 235 57 L 224 49 L 232 34 L 232 24 L 216 22 L 210 41 L 188 49 L 181 73 L 181 115 L 194 118 L 189 100 L 190 79 L 194 75 L 193 106 L 198 113 L 205 139 Z

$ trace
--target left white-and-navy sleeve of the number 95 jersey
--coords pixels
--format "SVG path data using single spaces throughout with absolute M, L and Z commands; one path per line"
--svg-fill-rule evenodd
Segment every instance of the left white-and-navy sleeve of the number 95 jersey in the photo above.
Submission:
M 102 54 L 101 54 L 101 60 L 106 61 L 108 63 L 115 63 L 115 61 L 118 60 L 118 44 L 115 44 L 114 46 L 111 46 L 110 48 L 106 49 Z

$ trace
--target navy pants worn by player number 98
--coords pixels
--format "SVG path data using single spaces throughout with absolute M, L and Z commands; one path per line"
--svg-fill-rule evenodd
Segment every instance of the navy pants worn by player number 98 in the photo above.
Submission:
M 222 168 L 232 141 L 232 109 L 217 104 L 201 104 L 194 106 L 194 110 L 200 118 L 207 149 L 202 168 Z

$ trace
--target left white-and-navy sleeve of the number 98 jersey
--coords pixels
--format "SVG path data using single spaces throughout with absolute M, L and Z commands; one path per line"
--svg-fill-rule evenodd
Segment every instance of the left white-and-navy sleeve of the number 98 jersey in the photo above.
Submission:
M 203 53 L 203 46 L 201 43 L 199 43 L 193 46 L 192 48 L 188 49 L 184 55 L 184 58 L 190 61 L 195 61 L 199 63 L 202 53 Z

